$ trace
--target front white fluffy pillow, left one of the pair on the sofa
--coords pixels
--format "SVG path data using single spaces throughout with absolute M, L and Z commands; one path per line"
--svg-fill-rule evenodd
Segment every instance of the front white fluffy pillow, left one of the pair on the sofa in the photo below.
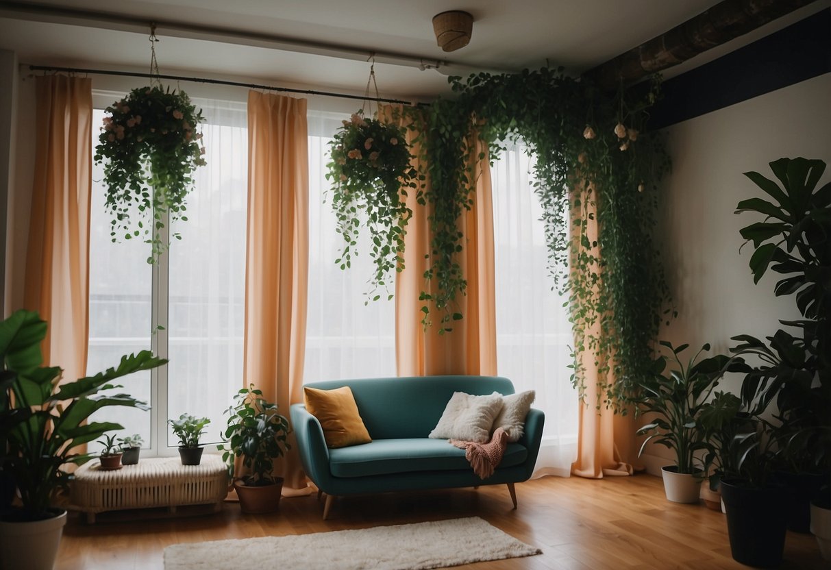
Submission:
M 490 428 L 501 410 L 502 396 L 497 392 L 490 396 L 454 392 L 435 430 L 430 432 L 430 437 L 435 440 L 487 443 L 490 440 Z

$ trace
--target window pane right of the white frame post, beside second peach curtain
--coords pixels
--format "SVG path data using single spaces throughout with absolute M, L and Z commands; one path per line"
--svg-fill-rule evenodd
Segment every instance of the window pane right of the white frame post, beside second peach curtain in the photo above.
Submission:
M 248 130 L 245 106 L 195 101 L 205 160 L 188 197 L 187 221 L 171 229 L 168 307 L 168 419 L 210 418 L 201 443 L 219 441 L 234 394 L 242 387 Z M 177 438 L 168 429 L 168 446 Z

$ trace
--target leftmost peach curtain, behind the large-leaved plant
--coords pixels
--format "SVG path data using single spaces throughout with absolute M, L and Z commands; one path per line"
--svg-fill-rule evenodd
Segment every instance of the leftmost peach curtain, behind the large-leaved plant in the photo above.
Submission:
M 35 176 L 24 305 L 49 323 L 47 365 L 86 376 L 89 335 L 92 80 L 36 79 Z

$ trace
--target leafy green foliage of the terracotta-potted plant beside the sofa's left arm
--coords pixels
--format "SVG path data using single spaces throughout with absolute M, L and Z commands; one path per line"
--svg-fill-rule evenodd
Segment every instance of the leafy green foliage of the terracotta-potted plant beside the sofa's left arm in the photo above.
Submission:
M 243 483 L 261 486 L 274 483 L 274 459 L 289 449 L 288 420 L 278 412 L 277 404 L 263 398 L 263 392 L 253 384 L 234 396 L 235 405 L 229 407 L 225 444 L 217 445 L 224 451 L 222 459 L 228 465 L 228 474 L 234 479 L 234 459 L 243 458 L 243 466 L 251 474 L 243 476 Z

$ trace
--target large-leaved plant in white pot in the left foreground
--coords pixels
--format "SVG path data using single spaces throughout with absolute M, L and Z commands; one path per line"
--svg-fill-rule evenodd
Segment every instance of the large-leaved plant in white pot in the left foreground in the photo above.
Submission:
M 101 394 L 111 382 L 165 364 L 150 351 L 122 356 L 120 364 L 95 376 L 58 383 L 61 369 L 42 366 L 47 323 L 37 312 L 17 311 L 0 323 L 0 466 L 11 475 L 20 504 L 0 513 L 0 559 L 7 568 L 52 568 L 66 511 L 55 507 L 58 491 L 93 455 L 78 450 L 122 426 L 90 421 L 105 406 L 148 410 L 129 394 Z

